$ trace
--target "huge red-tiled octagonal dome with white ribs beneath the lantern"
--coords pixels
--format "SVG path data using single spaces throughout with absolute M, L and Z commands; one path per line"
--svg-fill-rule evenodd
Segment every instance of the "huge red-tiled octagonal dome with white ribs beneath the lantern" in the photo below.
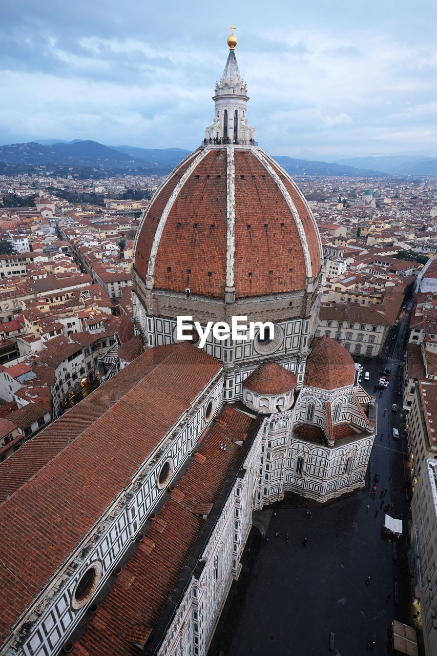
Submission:
M 293 180 L 260 148 L 207 146 L 169 175 L 136 237 L 149 289 L 236 298 L 306 288 L 321 268 L 314 217 Z

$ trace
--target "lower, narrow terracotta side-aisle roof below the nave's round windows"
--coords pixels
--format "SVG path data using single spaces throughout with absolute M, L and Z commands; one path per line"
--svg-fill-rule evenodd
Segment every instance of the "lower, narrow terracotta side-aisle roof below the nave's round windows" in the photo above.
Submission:
M 241 447 L 229 438 L 247 435 L 253 423 L 230 407 L 224 409 L 220 420 L 199 449 L 203 458 L 195 457 L 188 466 L 75 644 L 73 656 L 137 655 L 133 644 L 146 642 L 203 527 L 198 514 L 211 510 L 236 461 Z M 220 449 L 223 441 L 228 445 L 226 451 Z

